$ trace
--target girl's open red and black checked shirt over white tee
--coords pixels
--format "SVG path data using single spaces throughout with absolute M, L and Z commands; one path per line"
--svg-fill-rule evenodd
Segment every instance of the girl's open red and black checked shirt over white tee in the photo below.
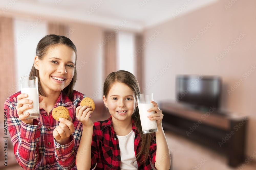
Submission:
M 132 130 L 135 132 L 134 138 L 134 152 L 140 151 L 138 147 L 141 137 L 138 134 L 137 128 L 132 120 Z M 156 160 L 156 140 L 151 141 L 149 150 L 149 159 L 143 163 L 138 164 L 138 169 L 152 169 L 150 161 L 155 165 Z M 91 147 L 91 169 L 93 169 L 97 163 L 96 169 L 121 169 L 121 156 L 118 138 L 112 126 L 112 117 L 107 120 L 95 122 L 93 126 L 93 137 Z

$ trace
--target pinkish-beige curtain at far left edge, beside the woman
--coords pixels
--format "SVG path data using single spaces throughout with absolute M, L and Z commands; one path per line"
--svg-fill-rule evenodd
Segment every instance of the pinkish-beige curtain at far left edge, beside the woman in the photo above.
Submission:
M 4 110 L 4 102 L 8 98 L 8 96 L 16 93 L 19 88 L 19 82 L 15 82 L 16 71 L 15 71 L 15 57 L 14 57 L 14 35 L 13 35 L 13 19 L 0 16 L 0 110 Z M 2 112 L 3 113 L 3 112 Z M 4 114 L 0 116 L 0 129 L 2 133 L 0 134 L 1 139 L 8 139 L 8 166 L 18 165 L 15 160 L 15 155 L 13 153 L 13 145 L 9 137 L 9 133 L 7 135 L 4 134 Z M 8 138 L 4 138 L 8 137 Z M 2 147 L 4 143 L 1 143 Z M 4 157 L 5 154 L 4 149 L 0 150 L 0 169 L 5 169 L 4 166 Z

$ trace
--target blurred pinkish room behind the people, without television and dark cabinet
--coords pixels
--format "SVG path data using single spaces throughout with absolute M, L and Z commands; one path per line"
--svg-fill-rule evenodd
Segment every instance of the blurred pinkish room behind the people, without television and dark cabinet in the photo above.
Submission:
M 20 77 L 29 75 L 38 41 L 47 34 L 65 35 L 77 47 L 74 89 L 95 101 L 95 121 L 109 116 L 102 92 L 112 71 L 132 72 L 141 93 L 153 92 L 159 104 L 177 104 L 177 75 L 219 77 L 219 109 L 249 119 L 244 161 L 231 167 L 225 154 L 165 128 L 172 169 L 256 169 L 256 1 L 1 0 L 0 7 L 2 110 L 7 97 L 20 90 Z M 4 115 L 0 120 L 4 129 Z M 3 136 L 2 130 L 1 141 Z M 10 138 L 8 167 L 5 143 L 0 145 L 0 169 L 14 169 Z

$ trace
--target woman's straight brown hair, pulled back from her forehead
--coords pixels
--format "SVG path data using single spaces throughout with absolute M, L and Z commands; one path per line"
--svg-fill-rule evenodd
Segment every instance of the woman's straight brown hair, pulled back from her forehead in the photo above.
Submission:
M 73 98 L 73 95 L 72 95 L 73 88 L 74 88 L 74 85 L 77 80 L 77 69 L 76 69 L 77 48 L 73 44 L 73 42 L 69 38 L 62 36 L 62 35 L 54 35 L 54 34 L 46 35 L 38 42 L 37 47 L 36 47 L 36 55 L 38 56 L 39 60 L 42 60 L 46 54 L 51 53 L 52 50 L 54 50 L 54 47 L 59 44 L 63 44 L 63 45 L 70 47 L 76 54 L 76 59 L 75 59 L 75 63 L 74 63 L 75 64 L 74 76 L 73 76 L 71 82 L 69 83 L 69 85 L 65 89 L 63 89 L 64 94 L 66 94 L 68 96 L 68 98 L 71 100 Z M 44 90 L 41 87 L 39 73 L 38 73 L 38 70 L 34 67 L 34 64 L 30 70 L 29 76 L 37 76 L 38 77 L 39 95 L 47 97 L 47 95 L 45 94 Z

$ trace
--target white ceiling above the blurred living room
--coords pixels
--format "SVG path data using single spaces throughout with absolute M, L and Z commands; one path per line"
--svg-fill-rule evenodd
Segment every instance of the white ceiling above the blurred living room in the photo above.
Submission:
M 115 28 L 126 20 L 124 29 L 142 31 L 174 19 L 176 10 L 180 11 L 177 16 L 180 17 L 216 1 L 218 0 L 1 0 L 0 8 L 9 6 L 10 9 L 6 13 L 56 17 L 93 23 L 106 28 Z M 94 11 L 91 9 L 93 7 Z M 88 11 L 92 13 L 89 15 Z

